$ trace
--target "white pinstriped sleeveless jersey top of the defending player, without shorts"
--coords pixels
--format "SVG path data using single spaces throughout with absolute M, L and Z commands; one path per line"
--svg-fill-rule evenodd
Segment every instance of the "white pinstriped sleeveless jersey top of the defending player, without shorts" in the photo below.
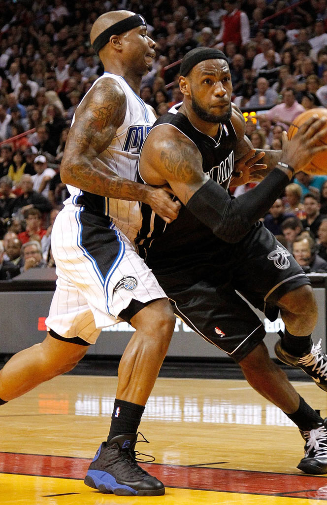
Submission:
M 98 158 L 120 177 L 136 182 L 141 146 L 156 118 L 151 108 L 143 102 L 121 76 L 104 72 L 92 87 L 100 79 L 107 77 L 115 79 L 122 87 L 127 99 L 127 108 L 124 122 L 118 128 L 115 138 Z M 73 123 L 74 120 L 75 115 Z M 140 205 L 137 201 L 98 196 L 70 185 L 68 185 L 68 190 L 71 197 L 66 200 L 65 204 L 82 205 L 91 212 L 110 216 L 123 233 L 130 240 L 134 240 L 142 222 Z

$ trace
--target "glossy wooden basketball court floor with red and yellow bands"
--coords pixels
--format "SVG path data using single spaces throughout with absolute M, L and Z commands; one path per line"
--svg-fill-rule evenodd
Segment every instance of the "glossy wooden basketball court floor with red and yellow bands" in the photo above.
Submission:
M 294 384 L 327 416 L 323 391 Z M 116 377 L 64 375 L 0 408 L 1 505 L 327 502 L 327 476 L 296 468 L 304 446 L 297 428 L 244 380 L 157 380 L 140 425 L 150 444 L 137 448 L 155 456 L 143 468 L 165 483 L 165 496 L 115 496 L 85 486 L 107 436 L 116 385 Z

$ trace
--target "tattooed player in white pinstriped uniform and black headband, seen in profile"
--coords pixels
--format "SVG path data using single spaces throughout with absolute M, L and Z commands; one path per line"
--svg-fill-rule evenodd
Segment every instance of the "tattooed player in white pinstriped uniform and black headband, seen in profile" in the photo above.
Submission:
M 137 465 L 134 446 L 175 317 L 125 233 L 133 238 L 138 230 L 138 201 L 167 222 L 180 204 L 163 189 L 135 182 L 141 144 L 155 120 L 139 97 L 155 46 L 144 19 L 128 11 L 103 14 L 91 43 L 105 72 L 79 105 L 66 143 L 61 175 L 71 197 L 52 230 L 58 281 L 48 334 L 2 369 L 0 404 L 71 370 L 101 328 L 128 321 L 136 331 L 120 362 L 110 433 L 85 483 L 105 493 L 160 495 L 165 487 Z

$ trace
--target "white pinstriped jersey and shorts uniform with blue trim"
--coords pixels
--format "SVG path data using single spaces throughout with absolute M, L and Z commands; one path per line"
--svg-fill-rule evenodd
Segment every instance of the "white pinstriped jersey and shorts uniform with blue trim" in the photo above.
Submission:
M 105 73 L 99 79 L 106 77 L 121 85 L 127 110 L 99 159 L 119 176 L 136 181 L 140 148 L 155 117 L 122 77 Z M 140 307 L 166 295 L 132 242 L 141 224 L 139 204 L 73 186 L 69 191 L 51 233 L 58 280 L 46 325 L 59 340 L 94 343 L 100 328 L 130 321 Z

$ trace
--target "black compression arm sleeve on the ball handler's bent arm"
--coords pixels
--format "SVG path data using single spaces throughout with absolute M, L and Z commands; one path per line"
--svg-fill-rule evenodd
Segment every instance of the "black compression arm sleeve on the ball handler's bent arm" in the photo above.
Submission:
M 275 168 L 253 189 L 232 199 L 210 179 L 191 196 L 186 207 L 217 237 L 236 243 L 268 212 L 289 183 L 287 175 Z

